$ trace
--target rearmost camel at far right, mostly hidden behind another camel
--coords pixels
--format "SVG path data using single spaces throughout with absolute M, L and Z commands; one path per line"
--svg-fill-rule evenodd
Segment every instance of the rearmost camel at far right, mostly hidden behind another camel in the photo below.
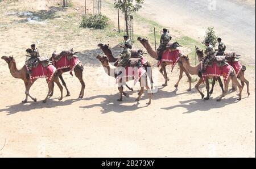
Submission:
M 204 58 L 204 52 L 203 52 L 203 50 L 199 50 L 199 48 L 196 48 L 196 53 L 197 53 L 197 55 L 199 56 L 199 58 Z M 245 69 L 245 70 L 246 70 L 246 69 Z M 247 79 L 245 78 L 245 70 L 241 70 L 240 73 L 237 74 L 237 78 L 240 79 L 240 81 L 241 81 L 242 90 L 243 90 L 243 87 L 245 86 L 245 83 L 246 83 L 246 86 L 247 86 L 247 94 L 248 94 L 248 96 L 250 96 L 250 92 L 249 92 L 249 81 L 247 81 Z M 234 83 L 234 84 L 235 84 L 235 86 L 233 85 L 232 88 L 233 88 L 233 90 L 236 90 L 236 83 Z M 214 85 L 215 85 L 215 81 L 214 81 L 214 79 L 213 79 L 212 89 L 210 90 L 210 94 L 213 93 Z

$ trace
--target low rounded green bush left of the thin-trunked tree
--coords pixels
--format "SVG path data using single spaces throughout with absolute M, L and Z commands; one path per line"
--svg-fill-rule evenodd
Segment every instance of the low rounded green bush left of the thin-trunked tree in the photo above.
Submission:
M 104 29 L 108 26 L 109 18 L 105 15 L 86 15 L 82 17 L 80 27 L 82 28 L 94 28 Z

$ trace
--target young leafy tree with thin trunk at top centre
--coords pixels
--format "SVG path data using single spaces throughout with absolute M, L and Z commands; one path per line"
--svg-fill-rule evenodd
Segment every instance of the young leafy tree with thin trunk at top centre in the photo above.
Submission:
M 133 12 L 137 12 L 142 8 L 144 0 L 115 0 L 115 9 L 119 9 L 125 14 L 125 27 L 126 34 L 129 35 L 128 31 L 128 16 Z

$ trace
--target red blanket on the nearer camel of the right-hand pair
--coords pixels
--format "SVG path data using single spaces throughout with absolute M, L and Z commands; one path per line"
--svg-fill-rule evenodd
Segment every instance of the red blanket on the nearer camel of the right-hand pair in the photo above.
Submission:
M 203 63 L 201 62 L 202 66 Z M 215 77 L 223 77 L 224 82 L 226 82 L 229 78 L 231 71 L 234 70 L 232 66 L 217 66 L 217 64 L 213 64 L 212 66 L 207 66 L 206 70 L 203 73 L 203 80 L 205 81 L 205 77 L 207 76 L 215 76 Z

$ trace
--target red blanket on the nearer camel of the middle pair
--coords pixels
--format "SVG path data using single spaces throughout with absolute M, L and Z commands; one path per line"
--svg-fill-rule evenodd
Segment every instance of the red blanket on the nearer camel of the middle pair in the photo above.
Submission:
M 117 67 L 118 69 L 118 67 Z M 119 69 L 119 71 L 122 71 L 122 69 Z M 144 73 L 146 73 L 146 70 L 143 69 L 143 67 L 125 67 L 125 72 L 122 72 L 122 74 L 118 75 L 117 77 L 117 83 L 120 81 L 120 79 L 125 78 L 124 80 L 126 81 L 126 78 L 132 78 L 134 79 L 134 86 L 135 84 L 139 81 L 139 79 L 142 77 Z

